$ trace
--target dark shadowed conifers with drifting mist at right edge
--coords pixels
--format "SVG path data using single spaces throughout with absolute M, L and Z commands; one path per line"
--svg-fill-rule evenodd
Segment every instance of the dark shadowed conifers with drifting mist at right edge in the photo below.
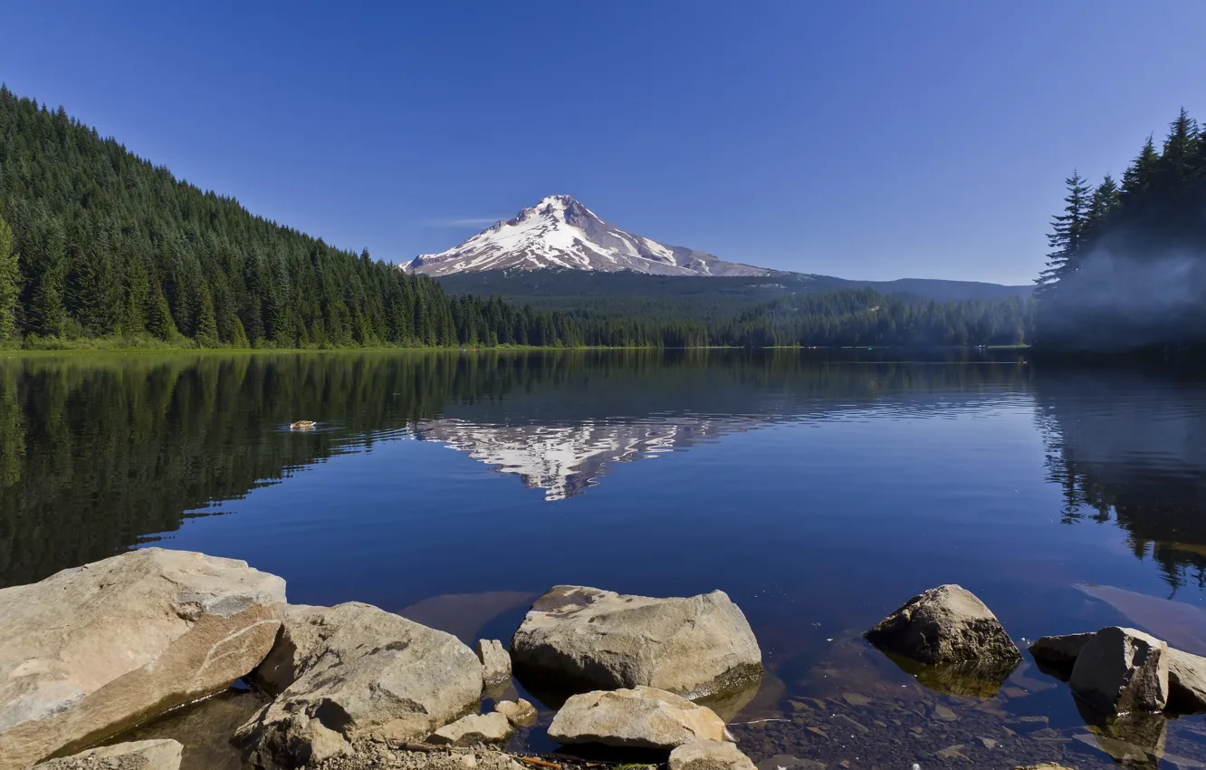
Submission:
M 1149 136 L 1122 182 L 1073 173 L 1037 280 L 1046 349 L 1206 344 L 1206 135 L 1182 110 Z

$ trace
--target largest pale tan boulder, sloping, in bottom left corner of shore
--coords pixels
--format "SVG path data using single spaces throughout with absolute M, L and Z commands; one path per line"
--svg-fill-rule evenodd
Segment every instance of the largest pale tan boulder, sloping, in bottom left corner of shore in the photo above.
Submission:
M 0 768 L 221 692 L 273 647 L 285 581 L 147 548 L 0 590 Z

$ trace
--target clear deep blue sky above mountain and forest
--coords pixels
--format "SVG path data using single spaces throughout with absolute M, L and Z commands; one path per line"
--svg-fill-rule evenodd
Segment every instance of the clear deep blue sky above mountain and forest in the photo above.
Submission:
M 1200 0 L 24 2 L 0 80 L 398 262 L 551 193 L 727 259 L 1028 282 L 1064 176 L 1206 118 Z

